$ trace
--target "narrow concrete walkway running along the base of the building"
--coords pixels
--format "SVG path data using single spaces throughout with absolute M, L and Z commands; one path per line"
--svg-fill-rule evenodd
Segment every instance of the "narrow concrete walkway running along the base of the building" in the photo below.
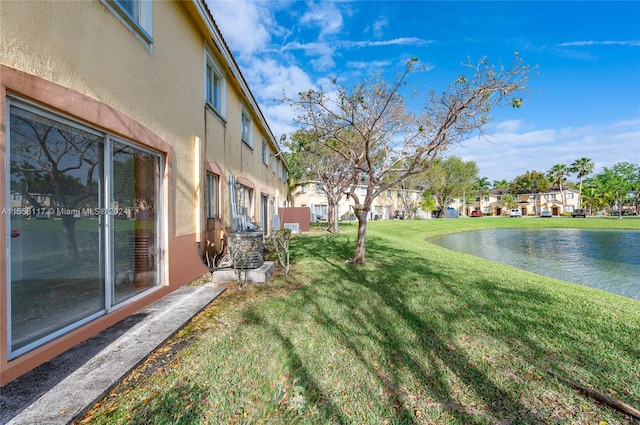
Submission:
M 0 388 L 0 425 L 68 424 L 224 291 L 185 286 Z

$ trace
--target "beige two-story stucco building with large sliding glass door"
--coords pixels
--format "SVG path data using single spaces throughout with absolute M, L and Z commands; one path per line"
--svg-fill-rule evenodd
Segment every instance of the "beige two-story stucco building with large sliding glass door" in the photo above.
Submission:
M 0 383 L 270 232 L 279 149 L 204 1 L 0 1 Z

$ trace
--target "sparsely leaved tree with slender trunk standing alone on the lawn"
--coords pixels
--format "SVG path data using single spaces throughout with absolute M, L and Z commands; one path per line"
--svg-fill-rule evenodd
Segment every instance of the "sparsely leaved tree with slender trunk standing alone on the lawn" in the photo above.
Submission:
M 529 67 L 516 54 L 508 67 L 491 65 L 487 58 L 463 64 L 471 75 L 461 75 L 440 95 L 431 92 L 424 112 L 409 110 L 401 88 L 415 71 L 411 59 L 395 81 L 376 76 L 347 90 L 333 79 L 334 95 L 309 90 L 287 99 L 296 109 L 297 122 L 318 136 L 317 143 L 349 164 L 346 173 L 366 187 L 349 191 L 358 220 L 356 254 L 351 261 L 365 262 L 367 215 L 374 199 L 406 177 L 428 169 L 439 153 L 489 121 L 492 107 L 519 107 Z

